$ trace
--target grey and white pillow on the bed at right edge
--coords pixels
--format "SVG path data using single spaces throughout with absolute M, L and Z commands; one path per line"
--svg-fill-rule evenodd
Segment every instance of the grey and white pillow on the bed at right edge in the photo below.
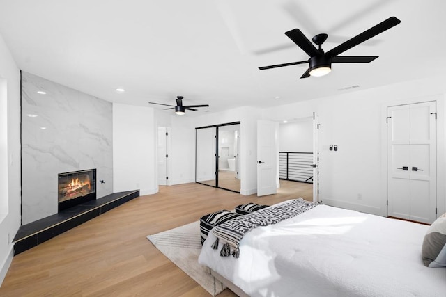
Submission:
M 438 217 L 427 230 L 422 257 L 427 267 L 446 267 L 446 214 Z

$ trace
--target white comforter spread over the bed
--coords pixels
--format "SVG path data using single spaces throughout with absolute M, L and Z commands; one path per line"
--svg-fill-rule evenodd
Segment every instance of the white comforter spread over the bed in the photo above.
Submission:
M 243 237 L 220 257 L 209 232 L 199 263 L 249 296 L 446 296 L 446 268 L 427 268 L 429 226 L 318 205 Z

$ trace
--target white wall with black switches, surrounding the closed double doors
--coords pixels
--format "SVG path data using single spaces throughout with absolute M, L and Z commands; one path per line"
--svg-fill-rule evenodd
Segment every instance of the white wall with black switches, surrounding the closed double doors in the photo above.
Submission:
M 326 204 L 387 215 L 385 106 L 436 100 L 438 212 L 446 211 L 445 77 L 358 90 L 265 111 L 271 119 L 296 118 L 291 111 L 316 111 L 320 153 L 319 199 Z M 305 116 L 305 115 L 304 115 Z M 328 150 L 330 144 L 339 147 Z

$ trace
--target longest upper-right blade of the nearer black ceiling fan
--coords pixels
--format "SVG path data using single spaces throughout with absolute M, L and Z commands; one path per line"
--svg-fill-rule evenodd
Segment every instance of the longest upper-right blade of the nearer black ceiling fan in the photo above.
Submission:
M 376 26 L 373 26 L 370 29 L 360 33 L 359 35 L 356 35 L 355 37 L 351 38 L 350 40 L 347 40 L 341 45 L 334 47 L 334 49 L 330 49 L 330 51 L 327 51 L 325 54 L 332 57 L 337 56 L 343 53 L 344 51 L 351 49 L 352 47 L 355 47 L 356 45 L 359 45 L 360 43 L 369 40 L 370 38 L 380 33 L 383 33 L 384 31 L 392 28 L 393 26 L 397 26 L 397 24 L 399 23 L 401 23 L 401 21 L 396 17 L 389 17 L 388 19 L 386 19 L 383 22 L 380 22 Z

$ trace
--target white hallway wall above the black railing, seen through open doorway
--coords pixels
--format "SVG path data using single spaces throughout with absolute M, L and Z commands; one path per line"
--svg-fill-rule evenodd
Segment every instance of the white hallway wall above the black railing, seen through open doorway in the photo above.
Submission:
M 280 152 L 313 152 L 313 118 L 279 123 Z

